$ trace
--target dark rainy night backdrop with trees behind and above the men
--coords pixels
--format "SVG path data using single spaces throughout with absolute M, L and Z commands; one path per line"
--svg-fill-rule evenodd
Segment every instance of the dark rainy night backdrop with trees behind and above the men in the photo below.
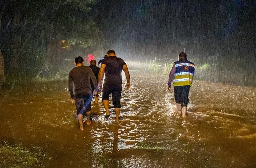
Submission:
M 255 0 L 2 0 L 0 6 L 7 77 L 65 76 L 64 58 L 98 59 L 109 49 L 142 63 L 176 59 L 185 49 L 198 79 L 256 83 Z

